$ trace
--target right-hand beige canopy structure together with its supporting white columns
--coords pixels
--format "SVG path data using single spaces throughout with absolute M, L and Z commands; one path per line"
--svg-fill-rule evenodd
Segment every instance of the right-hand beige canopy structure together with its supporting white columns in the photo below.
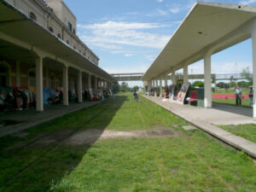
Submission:
M 166 77 L 172 73 L 172 84 L 177 85 L 175 73 L 177 70 L 183 69 L 183 83 L 187 84 L 189 83 L 189 65 L 203 60 L 204 107 L 214 108 L 212 106 L 212 55 L 252 38 L 253 113 L 251 117 L 256 118 L 255 17 L 256 7 L 253 6 L 210 2 L 195 3 L 160 55 L 144 73 L 142 80 L 145 87 L 148 86 L 149 90 L 152 88 L 160 90 L 160 96 L 162 96 L 163 79 L 165 79 L 167 89 Z M 232 110 L 240 109 L 232 108 Z M 217 119 L 221 119 L 220 114 L 218 112 Z

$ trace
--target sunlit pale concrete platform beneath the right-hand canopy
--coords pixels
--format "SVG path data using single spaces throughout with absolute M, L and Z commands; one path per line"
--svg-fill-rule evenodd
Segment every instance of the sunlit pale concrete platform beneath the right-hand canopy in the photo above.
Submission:
M 180 105 L 175 102 L 162 102 L 162 98 L 154 96 L 144 96 L 149 101 L 158 104 L 162 108 L 178 117 L 185 119 L 190 124 L 195 125 L 202 131 L 206 131 L 213 137 L 217 137 L 224 143 L 228 143 L 234 148 L 238 148 L 256 159 L 256 143 L 247 141 L 242 137 L 235 136 L 228 131 L 218 128 L 215 125 L 234 125 L 244 123 L 255 123 L 252 117 L 248 117 L 247 113 L 234 113 L 230 111 L 232 106 L 215 105 L 213 108 L 197 108 L 189 105 Z M 223 110 L 223 108 L 227 110 Z M 234 107 L 233 107 L 234 108 Z M 250 109 L 250 108 L 248 108 Z M 234 108 L 234 110 L 242 111 L 242 108 Z M 246 115 L 247 114 L 247 115 Z M 215 125 L 212 125 L 215 124 Z

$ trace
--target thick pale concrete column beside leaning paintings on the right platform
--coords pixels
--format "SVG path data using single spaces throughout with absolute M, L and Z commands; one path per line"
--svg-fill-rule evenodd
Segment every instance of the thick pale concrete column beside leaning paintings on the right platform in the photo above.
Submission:
M 212 75 L 211 75 L 211 55 L 204 58 L 205 71 L 205 108 L 212 108 Z

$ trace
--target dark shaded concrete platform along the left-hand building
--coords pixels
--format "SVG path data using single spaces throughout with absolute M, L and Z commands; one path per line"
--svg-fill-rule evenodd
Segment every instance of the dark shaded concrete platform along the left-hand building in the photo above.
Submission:
M 0 137 L 26 130 L 49 120 L 59 118 L 67 113 L 73 113 L 83 108 L 89 108 L 96 103 L 98 102 L 70 103 L 68 106 L 63 106 L 61 104 L 47 105 L 44 106 L 44 112 L 28 109 L 24 111 L 0 113 L 0 121 L 7 122 L 6 124 L 11 124 L 0 126 Z

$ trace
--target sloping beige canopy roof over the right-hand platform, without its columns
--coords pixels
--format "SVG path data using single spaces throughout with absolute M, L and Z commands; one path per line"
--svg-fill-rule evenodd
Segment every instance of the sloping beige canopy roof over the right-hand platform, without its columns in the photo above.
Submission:
M 197 2 L 189 11 L 166 47 L 162 49 L 143 80 L 152 80 L 201 60 L 207 49 L 256 16 L 256 7 L 227 3 Z M 214 49 L 212 53 L 250 38 L 244 35 L 230 44 Z

